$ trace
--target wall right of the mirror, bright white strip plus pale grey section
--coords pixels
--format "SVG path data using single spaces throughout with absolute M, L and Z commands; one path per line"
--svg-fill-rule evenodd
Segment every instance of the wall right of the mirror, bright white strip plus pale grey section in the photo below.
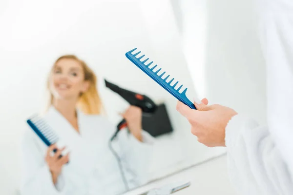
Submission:
M 182 46 L 199 97 L 264 124 L 265 63 L 254 1 L 178 1 Z

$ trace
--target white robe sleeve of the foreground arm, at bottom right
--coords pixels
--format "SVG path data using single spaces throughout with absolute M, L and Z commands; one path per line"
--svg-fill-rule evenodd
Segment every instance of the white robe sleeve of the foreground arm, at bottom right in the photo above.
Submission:
M 241 195 L 293 195 L 292 173 L 267 127 L 236 115 L 226 127 L 230 180 Z

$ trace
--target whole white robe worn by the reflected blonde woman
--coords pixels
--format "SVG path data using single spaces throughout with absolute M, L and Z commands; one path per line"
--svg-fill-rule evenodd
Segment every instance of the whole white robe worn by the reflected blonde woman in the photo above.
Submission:
M 63 166 L 55 186 L 44 160 L 47 146 L 28 128 L 21 144 L 21 195 L 116 195 L 126 191 L 117 159 L 108 148 L 115 125 L 105 117 L 78 111 L 78 134 L 53 106 L 44 119 L 69 148 L 69 163 Z M 146 182 L 153 141 L 143 131 L 143 142 L 139 142 L 126 129 L 113 141 L 129 188 Z

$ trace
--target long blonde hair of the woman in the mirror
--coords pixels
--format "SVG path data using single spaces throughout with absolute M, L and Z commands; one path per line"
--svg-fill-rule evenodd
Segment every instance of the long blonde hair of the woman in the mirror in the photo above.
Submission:
M 103 105 L 97 90 L 97 77 L 95 73 L 86 65 L 86 63 L 83 60 L 77 58 L 74 55 L 61 56 L 55 61 L 47 80 L 48 90 L 50 90 L 49 86 L 50 86 L 51 75 L 54 71 L 54 68 L 57 62 L 61 59 L 74 59 L 78 61 L 82 65 L 82 68 L 84 71 L 84 80 L 89 81 L 89 88 L 86 92 L 82 93 L 81 96 L 79 97 L 79 100 L 76 105 L 77 108 L 80 109 L 85 114 L 101 114 L 103 111 Z M 53 103 L 53 95 L 52 93 L 50 93 L 49 106 L 51 106 L 52 103 Z

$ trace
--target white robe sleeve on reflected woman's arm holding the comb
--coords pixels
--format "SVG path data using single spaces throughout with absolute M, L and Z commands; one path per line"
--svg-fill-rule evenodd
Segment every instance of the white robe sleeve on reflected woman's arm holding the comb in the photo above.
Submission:
M 21 143 L 21 195 L 83 195 L 83 182 L 74 173 L 70 177 L 61 173 L 54 185 L 45 154 L 34 136 L 32 132 L 26 132 Z

